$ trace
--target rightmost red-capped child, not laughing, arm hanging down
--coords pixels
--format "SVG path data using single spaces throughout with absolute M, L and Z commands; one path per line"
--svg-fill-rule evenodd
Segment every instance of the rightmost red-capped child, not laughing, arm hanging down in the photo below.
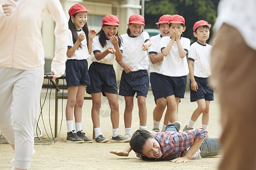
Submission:
M 193 26 L 193 35 L 197 41 L 190 46 L 188 54 L 188 69 L 190 76 L 190 100 L 197 102 L 197 108 L 191 116 L 188 125 L 183 131 L 193 129 L 197 118 L 203 113 L 202 128 L 208 129 L 209 105 L 214 99 L 213 90 L 208 84 L 210 71 L 210 50 L 212 45 L 207 44 L 210 35 L 210 24 L 204 20 Z

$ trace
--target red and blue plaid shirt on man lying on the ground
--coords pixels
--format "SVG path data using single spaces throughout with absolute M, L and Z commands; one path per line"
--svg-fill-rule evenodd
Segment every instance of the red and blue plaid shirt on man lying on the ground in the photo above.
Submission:
M 193 145 L 195 139 L 205 138 L 208 132 L 203 128 L 199 128 L 184 131 L 182 133 L 176 131 L 164 131 L 158 133 L 150 131 L 150 133 L 156 141 L 158 141 L 163 154 L 161 158 L 153 158 L 152 160 L 172 160 L 184 156 L 189 147 Z M 151 160 L 140 154 L 137 154 L 137 156 L 143 160 Z M 201 159 L 200 150 L 197 150 L 191 159 Z

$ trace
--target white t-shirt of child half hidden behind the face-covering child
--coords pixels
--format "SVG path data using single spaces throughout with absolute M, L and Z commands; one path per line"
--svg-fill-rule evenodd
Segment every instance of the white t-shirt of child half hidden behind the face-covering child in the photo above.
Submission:
M 160 48 L 161 38 L 162 38 L 161 34 L 150 37 L 151 46 L 148 49 L 149 54 L 160 54 L 160 53 L 162 53 L 161 48 Z M 160 69 L 162 67 L 162 63 L 163 63 L 163 61 L 159 61 L 159 62 L 154 63 L 154 64 L 152 64 L 150 62 L 150 66 L 149 66 L 148 71 L 150 73 L 159 73 L 160 74 Z

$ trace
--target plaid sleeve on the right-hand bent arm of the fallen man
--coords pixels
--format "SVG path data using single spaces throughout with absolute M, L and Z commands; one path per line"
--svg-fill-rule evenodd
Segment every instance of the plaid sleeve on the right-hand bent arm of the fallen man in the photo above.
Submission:
M 195 139 L 202 139 L 207 136 L 207 130 L 203 128 L 184 131 L 183 133 L 174 133 L 172 138 L 172 147 L 175 152 L 181 152 L 191 147 Z

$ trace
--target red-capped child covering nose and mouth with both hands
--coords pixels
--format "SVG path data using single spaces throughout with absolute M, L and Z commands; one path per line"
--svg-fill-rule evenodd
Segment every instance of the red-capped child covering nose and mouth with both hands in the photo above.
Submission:
M 190 40 L 181 37 L 185 31 L 185 19 L 180 15 L 172 15 L 169 20 L 170 37 L 163 37 L 160 47 L 164 56 L 160 73 L 164 75 L 165 96 L 167 111 L 170 113 L 170 122 L 178 120 L 177 109 L 180 98 L 184 98 L 188 62 L 185 57 L 188 54 Z

